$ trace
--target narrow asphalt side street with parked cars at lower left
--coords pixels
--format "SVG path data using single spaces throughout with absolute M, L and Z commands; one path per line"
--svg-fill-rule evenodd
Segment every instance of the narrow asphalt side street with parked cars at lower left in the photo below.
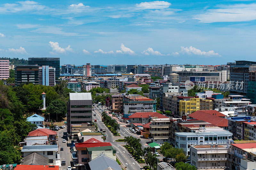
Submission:
M 67 138 L 67 128 L 60 129 L 58 132 L 58 145 L 59 145 L 59 153 L 60 153 L 60 161 L 65 160 L 66 165 L 62 165 L 61 169 L 66 170 L 68 166 L 70 166 L 71 162 L 71 153 L 68 147 L 68 138 Z M 62 143 L 62 139 L 66 139 L 66 143 Z M 63 148 L 63 151 L 60 151 L 60 148 Z

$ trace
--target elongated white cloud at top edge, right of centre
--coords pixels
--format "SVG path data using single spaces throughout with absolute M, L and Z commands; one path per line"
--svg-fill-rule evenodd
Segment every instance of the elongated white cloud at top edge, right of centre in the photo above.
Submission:
M 153 1 L 153 2 L 142 2 L 140 4 L 136 4 L 137 7 L 143 9 L 164 9 L 171 6 L 171 3 L 165 1 Z

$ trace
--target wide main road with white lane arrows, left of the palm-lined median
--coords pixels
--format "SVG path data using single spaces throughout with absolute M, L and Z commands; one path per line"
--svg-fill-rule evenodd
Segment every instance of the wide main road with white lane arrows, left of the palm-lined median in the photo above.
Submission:
M 106 126 L 102 123 L 101 117 L 99 115 L 98 110 L 92 111 L 93 114 L 95 113 L 96 116 L 93 116 L 93 120 L 97 120 L 97 125 L 98 129 L 100 128 L 106 128 Z M 123 129 L 122 129 L 123 130 Z M 141 166 L 138 164 L 137 161 L 135 161 L 132 156 L 125 150 L 125 148 L 122 146 L 124 145 L 124 142 L 114 142 L 116 139 L 120 137 L 113 137 L 112 133 L 106 128 L 106 132 L 104 132 L 105 135 L 107 135 L 106 142 L 110 142 L 112 146 L 116 149 L 116 156 L 119 158 L 120 162 L 126 166 L 127 170 L 132 170 L 132 169 L 142 169 Z M 123 133 L 121 133 L 123 136 Z M 126 135 L 124 133 L 124 135 Z

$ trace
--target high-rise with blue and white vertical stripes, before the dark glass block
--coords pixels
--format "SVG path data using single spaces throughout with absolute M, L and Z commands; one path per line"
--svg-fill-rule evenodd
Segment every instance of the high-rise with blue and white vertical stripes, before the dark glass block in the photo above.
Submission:
M 55 86 L 55 68 L 49 66 L 39 67 L 38 81 L 39 84 L 44 86 Z

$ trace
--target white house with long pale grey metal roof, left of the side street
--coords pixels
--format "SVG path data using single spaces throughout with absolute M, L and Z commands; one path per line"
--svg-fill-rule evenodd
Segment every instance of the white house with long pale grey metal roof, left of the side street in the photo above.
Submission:
M 29 145 L 23 146 L 21 152 L 26 157 L 29 154 L 36 152 L 46 158 L 48 158 L 48 165 L 56 165 L 58 162 L 58 145 Z

